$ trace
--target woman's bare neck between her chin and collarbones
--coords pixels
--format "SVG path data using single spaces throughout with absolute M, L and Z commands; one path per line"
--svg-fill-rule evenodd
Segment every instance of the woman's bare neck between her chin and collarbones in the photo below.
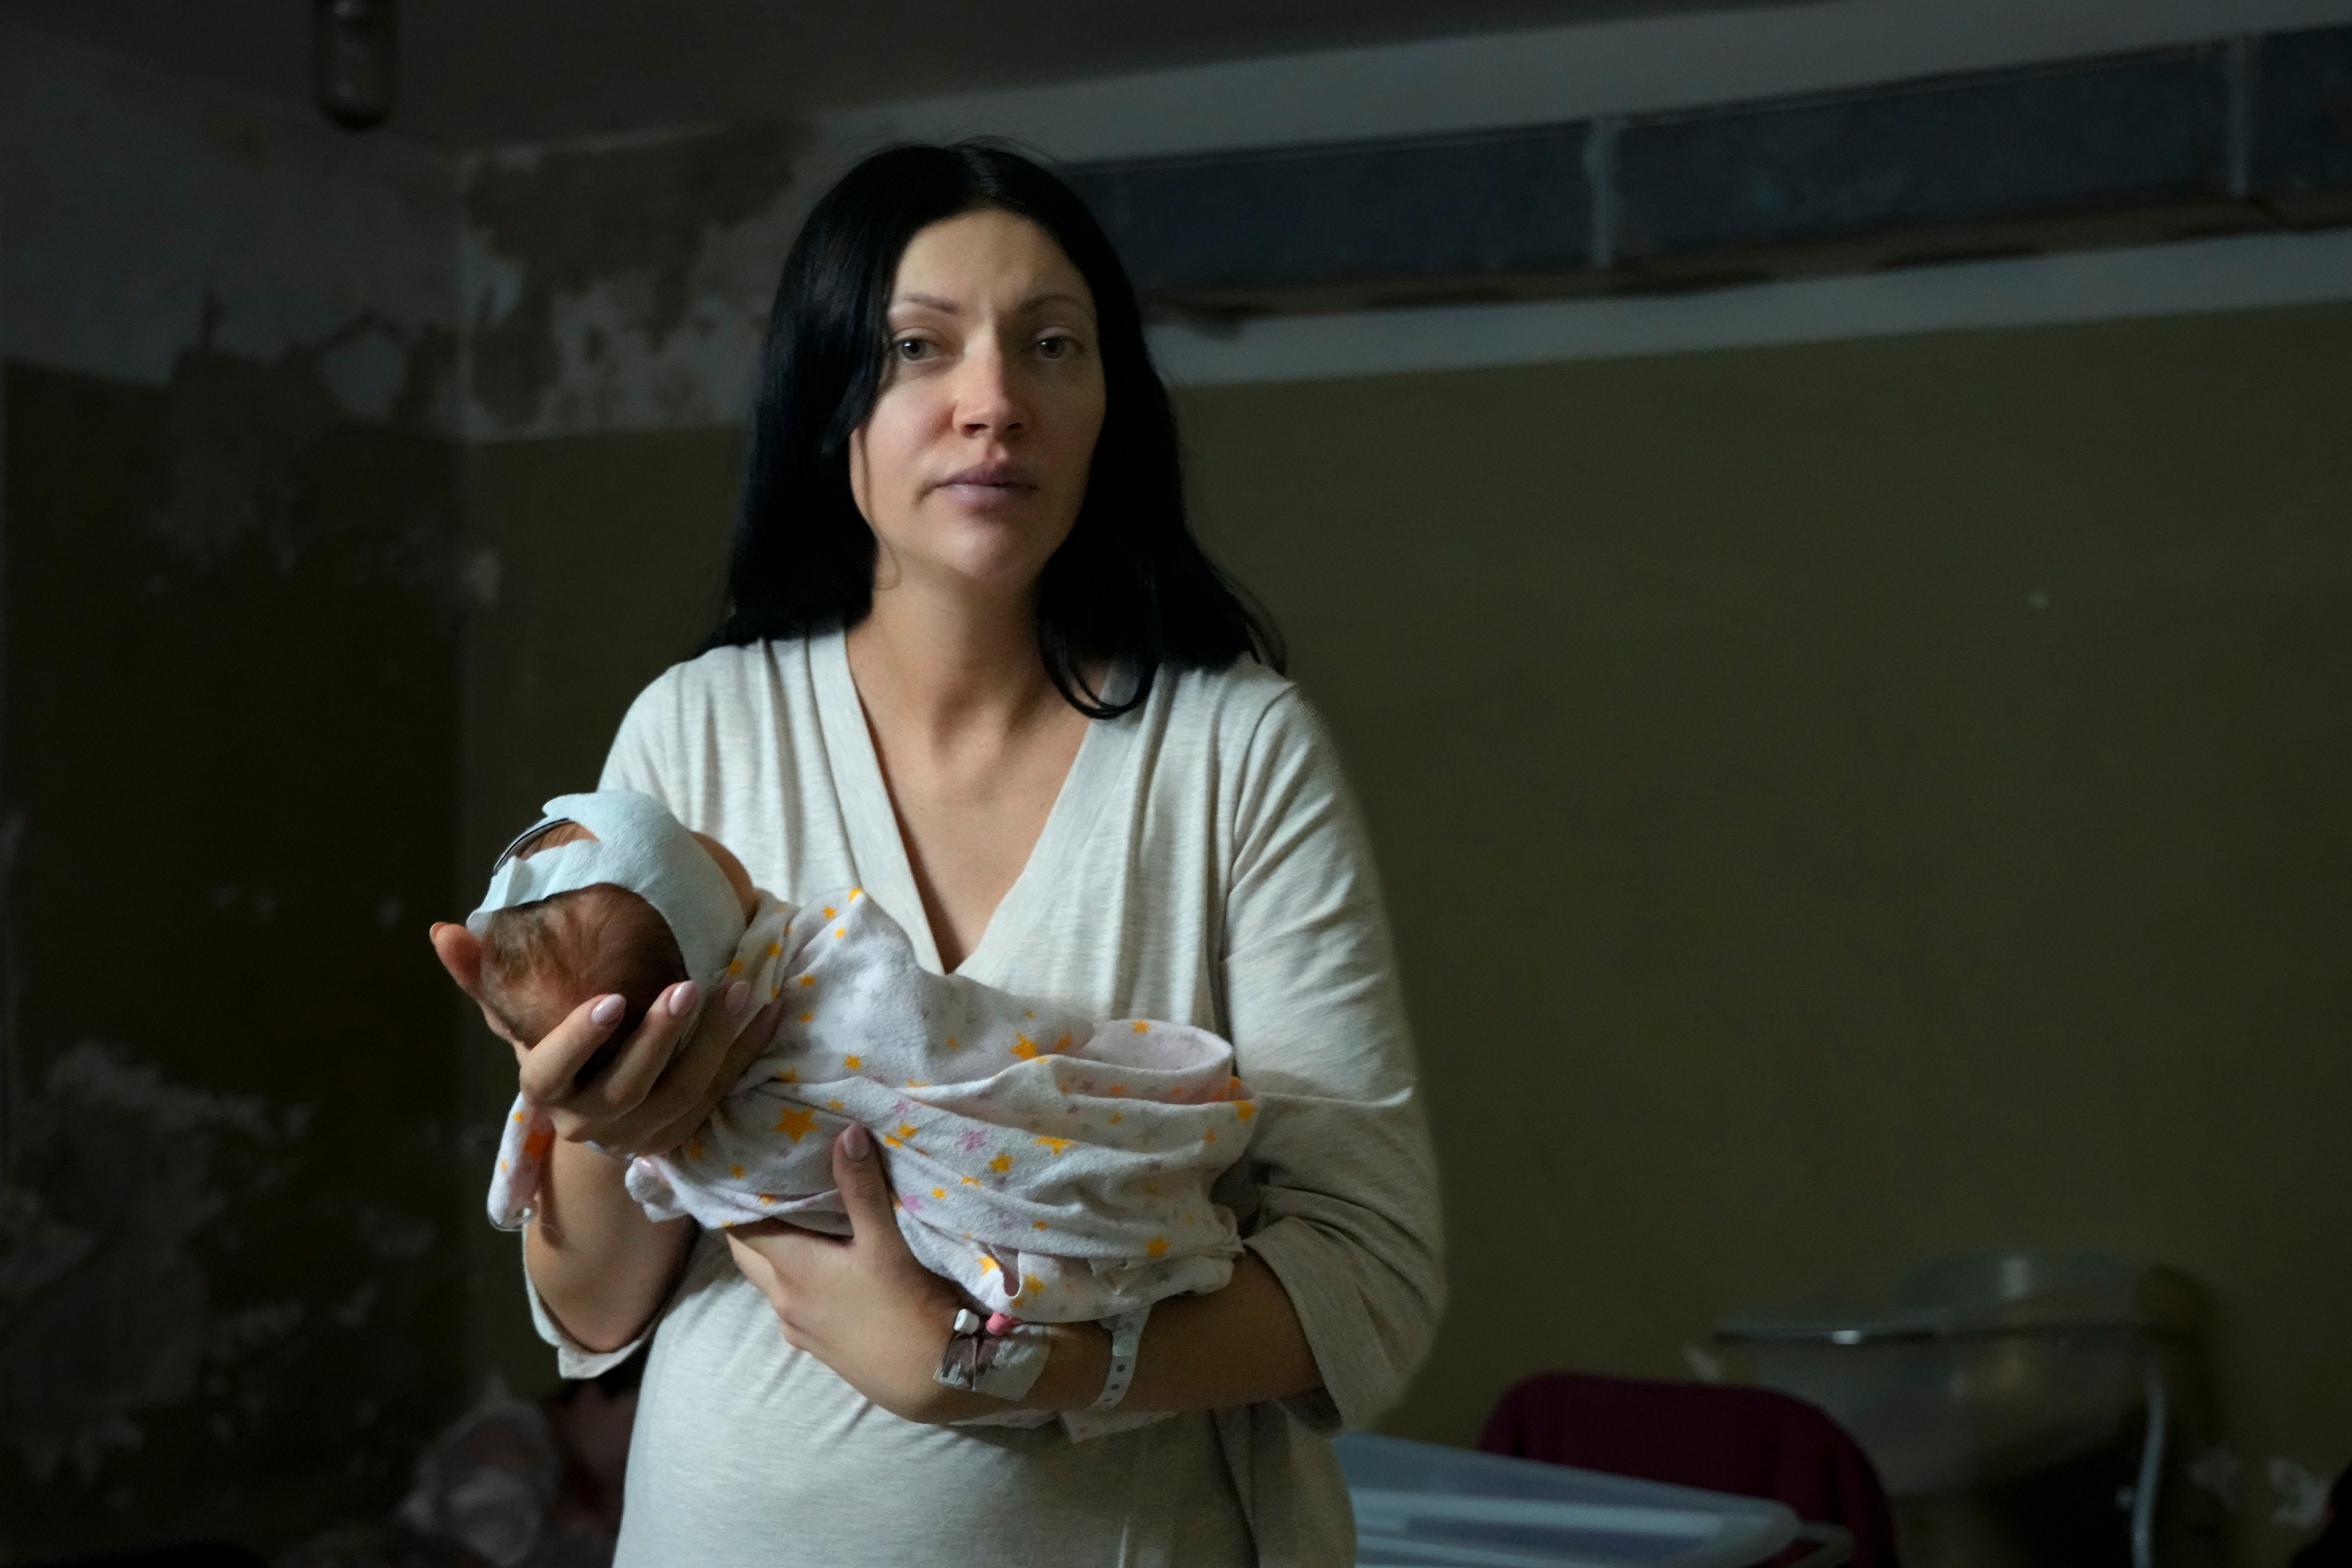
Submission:
M 868 712 L 882 708 L 931 743 L 1011 733 L 1061 703 L 1028 599 L 880 590 L 873 614 L 849 628 L 849 670 Z

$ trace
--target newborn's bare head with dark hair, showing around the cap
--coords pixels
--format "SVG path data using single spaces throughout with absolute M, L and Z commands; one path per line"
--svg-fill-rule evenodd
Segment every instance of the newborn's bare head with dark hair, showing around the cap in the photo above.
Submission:
M 581 839 L 595 835 L 579 823 L 555 823 L 515 858 Z M 713 837 L 696 832 L 694 839 L 710 851 L 750 919 L 760 898 L 743 863 Z M 621 1023 L 607 1034 L 623 1041 L 661 992 L 689 978 L 668 922 L 652 903 L 609 882 L 496 910 L 480 938 L 482 1009 L 524 1046 L 536 1046 L 581 1001 L 604 994 L 626 1004 Z

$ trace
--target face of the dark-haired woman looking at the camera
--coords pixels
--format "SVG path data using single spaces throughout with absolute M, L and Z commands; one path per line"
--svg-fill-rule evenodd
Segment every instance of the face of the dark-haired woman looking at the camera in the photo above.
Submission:
M 1077 522 L 1101 430 L 1094 294 L 1054 237 L 1009 212 L 920 230 L 891 284 L 882 393 L 849 440 L 875 588 L 1025 595 Z

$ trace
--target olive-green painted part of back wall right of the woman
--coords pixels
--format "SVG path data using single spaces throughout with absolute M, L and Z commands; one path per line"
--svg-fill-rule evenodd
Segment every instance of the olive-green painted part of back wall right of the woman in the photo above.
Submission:
M 1397 1432 L 2030 1246 L 2213 1293 L 2249 1512 L 2352 1460 L 2347 367 L 2312 308 L 1183 397 L 1421 1034 Z

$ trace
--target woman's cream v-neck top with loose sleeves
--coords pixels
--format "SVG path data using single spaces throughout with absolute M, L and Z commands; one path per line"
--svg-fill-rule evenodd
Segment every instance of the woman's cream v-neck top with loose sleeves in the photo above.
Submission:
M 938 969 L 837 632 L 666 672 L 621 722 L 616 785 L 786 900 L 866 889 Z M 1249 661 L 1162 672 L 1141 710 L 1089 724 L 960 973 L 1232 1039 L 1261 1114 L 1216 1197 L 1324 1389 L 1089 1443 L 903 1422 L 788 1347 L 706 1234 L 652 1328 L 619 1566 L 1352 1563 L 1329 1434 L 1392 1403 L 1428 1349 L 1437 1178 L 1371 853 L 1298 691 Z M 583 1352 L 534 1307 L 567 1375 L 628 1354 Z

